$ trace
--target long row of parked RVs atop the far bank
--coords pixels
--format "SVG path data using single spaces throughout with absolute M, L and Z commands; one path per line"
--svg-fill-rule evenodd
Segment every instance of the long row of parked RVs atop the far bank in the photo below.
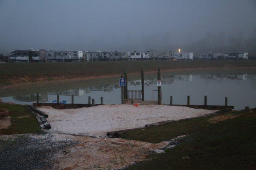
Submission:
M 206 53 L 197 59 L 247 59 L 248 53 Z M 193 60 L 192 52 L 172 52 L 151 50 L 147 52 L 88 52 L 88 51 L 52 51 L 52 50 L 13 50 L 10 61 L 112 61 L 112 60 Z

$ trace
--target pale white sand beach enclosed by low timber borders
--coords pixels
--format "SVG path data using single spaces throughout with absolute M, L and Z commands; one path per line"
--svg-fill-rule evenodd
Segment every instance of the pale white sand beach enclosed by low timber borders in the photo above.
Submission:
M 145 124 L 166 120 L 192 118 L 215 110 L 192 109 L 189 107 L 109 104 L 80 109 L 53 109 L 38 107 L 47 113 L 52 129 L 72 134 L 106 135 L 107 132 L 144 127 Z

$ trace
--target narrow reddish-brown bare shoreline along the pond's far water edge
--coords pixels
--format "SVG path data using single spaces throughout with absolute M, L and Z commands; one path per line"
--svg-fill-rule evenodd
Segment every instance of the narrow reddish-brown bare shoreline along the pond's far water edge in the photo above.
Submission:
M 222 66 L 222 67 L 198 67 L 198 68 L 175 68 L 175 69 L 161 69 L 162 73 L 165 72 L 186 72 L 186 71 L 216 71 L 225 69 L 256 69 L 256 66 Z M 145 74 L 156 74 L 157 70 L 144 71 Z M 128 75 L 140 75 L 140 72 L 128 72 Z M 78 76 L 79 78 L 69 78 Z M 41 75 L 38 78 L 29 78 L 28 75 L 20 76 L 19 78 L 12 79 L 10 85 L 0 86 L 0 89 L 9 89 L 20 86 L 30 86 L 38 84 L 49 84 L 49 83 L 65 83 L 65 82 L 75 82 L 75 81 L 87 81 L 87 80 L 97 80 L 103 78 L 118 78 L 120 74 L 115 75 L 94 75 L 94 76 L 83 76 L 83 75 Z M 53 79 L 53 80 L 52 80 Z M 20 82 L 21 81 L 21 82 Z

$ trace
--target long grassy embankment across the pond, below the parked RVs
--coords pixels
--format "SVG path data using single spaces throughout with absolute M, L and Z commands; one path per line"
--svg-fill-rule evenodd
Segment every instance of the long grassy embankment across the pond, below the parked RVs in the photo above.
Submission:
M 129 74 L 140 70 L 195 70 L 220 68 L 249 68 L 256 61 L 108 61 L 75 63 L 5 63 L 0 65 L 0 86 L 17 83 L 33 83 L 74 78 L 113 76 L 127 71 Z

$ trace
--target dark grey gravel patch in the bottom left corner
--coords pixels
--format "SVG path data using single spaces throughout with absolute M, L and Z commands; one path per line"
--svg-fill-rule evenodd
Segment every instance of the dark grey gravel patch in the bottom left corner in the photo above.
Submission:
M 52 169 L 54 155 L 66 147 L 77 143 L 72 140 L 52 140 L 51 134 L 45 135 L 1 135 L 0 169 L 35 170 Z

